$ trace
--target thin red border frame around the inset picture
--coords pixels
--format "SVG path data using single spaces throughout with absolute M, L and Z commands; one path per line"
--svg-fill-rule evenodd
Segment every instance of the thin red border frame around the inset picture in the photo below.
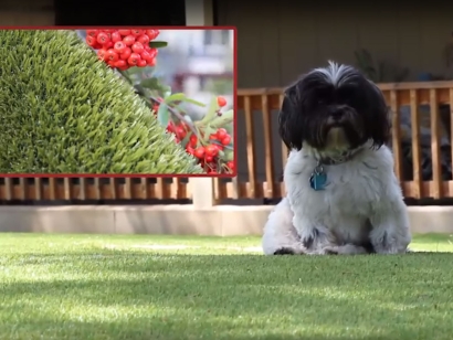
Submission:
M 0 30 L 87 30 L 87 29 L 117 29 L 117 28 L 146 28 L 157 30 L 232 30 L 233 31 L 233 108 L 234 108 L 234 172 L 222 174 L 146 174 L 146 173 L 0 173 L 2 178 L 234 178 L 238 176 L 238 29 L 235 26 L 147 26 L 147 25 L 122 25 L 122 26 L 84 26 L 84 25 L 59 25 L 59 26 L 12 26 L 0 25 Z

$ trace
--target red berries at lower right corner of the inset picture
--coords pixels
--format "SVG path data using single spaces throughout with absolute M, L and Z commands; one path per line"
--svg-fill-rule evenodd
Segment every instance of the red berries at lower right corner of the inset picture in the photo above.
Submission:
M 218 104 L 220 107 L 225 106 L 225 98 L 219 96 Z M 158 108 L 159 104 L 157 103 L 152 110 L 156 113 Z M 219 114 L 221 115 L 220 111 Z M 186 141 L 183 146 L 186 151 L 198 159 L 198 162 L 207 173 L 232 173 L 234 171 L 234 161 L 222 159 L 224 148 L 231 148 L 230 145 L 232 142 L 230 134 L 224 128 L 218 128 L 214 134 L 209 136 L 208 140 L 204 138 L 202 127 L 199 127 L 200 136 L 198 137 L 186 121 L 176 124 L 173 120 L 170 120 L 167 131 L 175 134 L 176 142 Z

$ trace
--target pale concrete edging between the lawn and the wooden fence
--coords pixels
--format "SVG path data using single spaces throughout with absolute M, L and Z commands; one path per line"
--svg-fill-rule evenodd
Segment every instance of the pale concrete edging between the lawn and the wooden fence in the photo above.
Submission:
M 272 205 L 0 206 L 0 232 L 260 235 Z M 453 233 L 453 206 L 410 206 L 414 233 Z

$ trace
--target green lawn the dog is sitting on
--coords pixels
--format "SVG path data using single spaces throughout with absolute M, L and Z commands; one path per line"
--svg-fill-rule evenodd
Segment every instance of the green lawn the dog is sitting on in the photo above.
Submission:
M 257 237 L 0 235 L 0 339 L 452 339 L 453 235 L 401 256 Z

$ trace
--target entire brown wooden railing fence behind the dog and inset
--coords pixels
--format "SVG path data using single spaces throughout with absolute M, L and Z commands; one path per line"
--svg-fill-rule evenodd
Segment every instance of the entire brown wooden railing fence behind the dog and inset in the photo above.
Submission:
M 404 195 L 452 198 L 453 82 L 380 84 L 380 88 L 392 111 L 394 171 Z M 284 194 L 281 173 L 287 150 L 275 124 L 282 99 L 282 88 L 238 91 L 239 176 L 208 179 L 214 199 Z M 193 182 L 181 178 L 2 178 L 0 201 L 190 200 Z

